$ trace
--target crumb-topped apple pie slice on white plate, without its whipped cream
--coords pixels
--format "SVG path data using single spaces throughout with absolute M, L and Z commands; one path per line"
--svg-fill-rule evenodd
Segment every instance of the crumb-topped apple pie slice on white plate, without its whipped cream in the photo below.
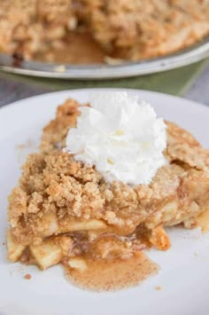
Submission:
M 87 261 L 128 261 L 144 248 L 166 250 L 166 226 L 196 227 L 209 209 L 209 151 L 166 122 L 166 163 L 149 184 L 108 182 L 95 165 L 66 151 L 67 134 L 83 108 L 58 106 L 9 197 L 8 258 L 83 270 Z M 101 127 L 102 128 L 102 127 Z

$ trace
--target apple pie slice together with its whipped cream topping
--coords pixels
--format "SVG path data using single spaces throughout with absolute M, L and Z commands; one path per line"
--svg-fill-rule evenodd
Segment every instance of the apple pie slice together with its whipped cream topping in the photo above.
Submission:
M 209 151 L 188 131 L 158 121 L 151 106 L 137 104 L 137 115 L 128 103 L 135 99 L 111 98 L 91 105 L 68 99 L 44 128 L 40 153 L 28 156 L 9 197 L 12 262 L 82 270 L 88 259 L 128 259 L 151 246 L 166 250 L 165 226 L 195 227 L 209 209 Z

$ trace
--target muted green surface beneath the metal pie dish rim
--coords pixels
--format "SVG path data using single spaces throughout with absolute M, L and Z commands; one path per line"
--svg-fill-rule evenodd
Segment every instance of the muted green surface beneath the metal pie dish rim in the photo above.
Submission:
M 112 79 L 112 80 L 91 80 L 91 81 L 76 81 L 76 80 L 58 80 L 48 78 L 38 78 L 24 75 L 12 75 L 1 72 L 1 79 L 11 79 L 21 83 L 46 88 L 49 91 L 61 91 L 69 89 L 81 88 L 132 88 L 143 89 L 150 91 L 159 91 L 174 95 L 183 95 L 183 93 L 194 82 L 197 75 L 200 73 L 205 63 L 208 60 L 203 60 L 190 66 L 177 68 L 170 71 L 161 72 L 153 75 L 142 75 L 132 78 Z

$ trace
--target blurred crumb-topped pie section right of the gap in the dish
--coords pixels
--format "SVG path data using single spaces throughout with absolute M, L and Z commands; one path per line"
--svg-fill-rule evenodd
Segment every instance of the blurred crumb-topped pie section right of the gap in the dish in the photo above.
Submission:
M 178 51 L 209 33 L 209 2 L 198 0 L 83 0 L 97 41 L 126 59 Z

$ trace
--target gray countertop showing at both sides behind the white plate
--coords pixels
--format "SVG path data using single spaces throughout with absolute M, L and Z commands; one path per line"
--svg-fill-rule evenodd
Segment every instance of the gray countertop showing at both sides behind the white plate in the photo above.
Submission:
M 26 82 L 17 82 L 11 78 L 0 79 L 0 106 L 12 103 L 21 98 L 42 94 L 51 91 L 49 87 L 36 86 Z M 206 64 L 184 98 L 190 98 L 209 106 L 209 64 Z

